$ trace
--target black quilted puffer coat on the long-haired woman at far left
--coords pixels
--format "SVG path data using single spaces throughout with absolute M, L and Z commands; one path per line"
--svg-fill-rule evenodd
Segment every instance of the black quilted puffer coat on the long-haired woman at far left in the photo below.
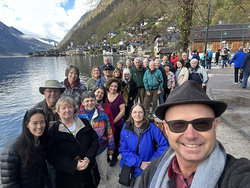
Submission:
M 3 188 L 45 188 L 48 187 L 48 171 L 45 161 L 46 146 L 39 146 L 40 160 L 31 169 L 22 167 L 18 152 L 18 140 L 4 148 L 1 154 L 1 179 Z

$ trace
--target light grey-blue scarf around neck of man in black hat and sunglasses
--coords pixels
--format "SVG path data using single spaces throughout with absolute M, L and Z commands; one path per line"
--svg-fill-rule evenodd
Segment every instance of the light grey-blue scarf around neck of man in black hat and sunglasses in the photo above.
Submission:
M 175 152 L 172 148 L 164 154 L 161 159 L 152 180 L 150 182 L 150 188 L 166 188 L 168 187 L 168 167 L 175 156 Z M 215 148 L 209 157 L 200 164 L 195 172 L 191 188 L 213 188 L 216 187 L 217 182 L 224 170 L 226 164 L 226 152 L 218 141 Z

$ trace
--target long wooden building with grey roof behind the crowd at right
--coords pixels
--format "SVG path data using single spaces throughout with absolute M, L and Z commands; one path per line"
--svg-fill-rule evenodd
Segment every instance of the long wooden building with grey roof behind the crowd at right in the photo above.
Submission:
M 204 51 L 206 26 L 192 28 L 191 51 Z M 250 47 L 250 24 L 210 25 L 208 30 L 207 49 L 216 52 L 221 48 L 230 51 L 240 46 Z

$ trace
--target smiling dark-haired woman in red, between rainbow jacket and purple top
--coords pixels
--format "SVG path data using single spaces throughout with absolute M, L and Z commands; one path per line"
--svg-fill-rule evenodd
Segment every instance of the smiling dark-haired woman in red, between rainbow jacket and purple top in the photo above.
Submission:
M 114 128 L 114 118 L 109 106 L 109 103 L 106 103 L 107 98 L 107 92 L 103 85 L 98 85 L 93 88 L 93 92 L 95 95 L 96 102 L 101 105 L 103 108 L 105 114 L 109 118 L 109 122 L 112 128 L 113 135 L 115 134 L 115 128 Z

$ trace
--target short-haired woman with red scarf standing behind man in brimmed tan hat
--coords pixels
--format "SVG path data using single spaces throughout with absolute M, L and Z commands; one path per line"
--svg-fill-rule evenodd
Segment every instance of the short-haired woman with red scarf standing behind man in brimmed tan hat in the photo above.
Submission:
M 60 82 L 66 88 L 62 96 L 69 96 L 80 107 L 81 105 L 81 94 L 87 90 L 85 85 L 80 82 L 79 68 L 75 65 L 70 65 L 65 70 L 65 80 Z

